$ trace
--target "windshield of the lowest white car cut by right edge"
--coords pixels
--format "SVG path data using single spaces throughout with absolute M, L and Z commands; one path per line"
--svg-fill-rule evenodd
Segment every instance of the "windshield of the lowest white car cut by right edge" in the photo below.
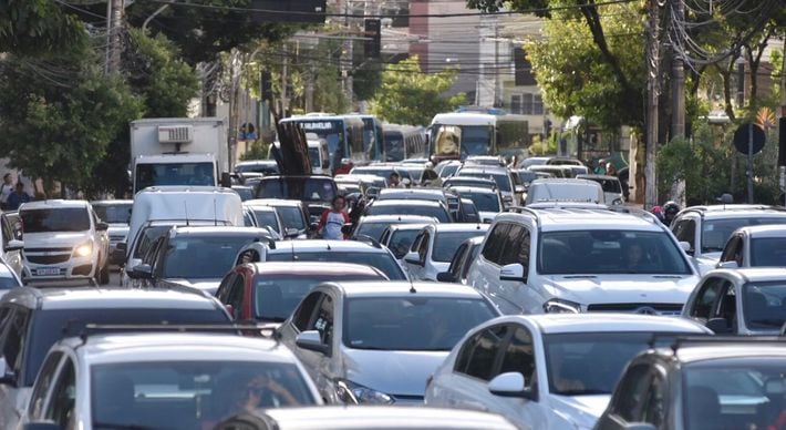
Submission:
M 786 322 L 786 283 L 747 283 L 743 285 L 745 327 L 752 330 L 779 331 Z

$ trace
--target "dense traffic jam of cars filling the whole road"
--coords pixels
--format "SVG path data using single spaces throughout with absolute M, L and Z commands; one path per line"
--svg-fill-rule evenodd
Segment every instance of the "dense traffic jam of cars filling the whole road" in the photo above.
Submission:
M 786 428 L 786 211 L 666 226 L 559 162 L 24 204 L 0 428 Z

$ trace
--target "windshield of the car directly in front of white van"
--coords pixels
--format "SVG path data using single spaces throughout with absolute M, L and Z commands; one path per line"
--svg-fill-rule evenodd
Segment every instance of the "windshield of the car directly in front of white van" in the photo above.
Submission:
M 179 235 L 169 240 L 164 256 L 163 278 L 221 278 L 232 268 L 235 257 L 244 246 L 261 240 L 249 235 Z

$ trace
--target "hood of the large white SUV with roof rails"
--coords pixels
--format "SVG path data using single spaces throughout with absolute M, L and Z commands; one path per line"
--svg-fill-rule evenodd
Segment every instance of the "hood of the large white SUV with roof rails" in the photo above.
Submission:
M 581 305 L 658 303 L 684 304 L 699 277 L 658 275 L 549 276 L 551 294 Z

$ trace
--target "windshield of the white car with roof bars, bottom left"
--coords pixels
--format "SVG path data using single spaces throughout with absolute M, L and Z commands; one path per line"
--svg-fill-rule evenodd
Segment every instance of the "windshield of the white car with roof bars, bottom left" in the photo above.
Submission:
M 93 429 L 210 428 L 256 408 L 316 405 L 297 366 L 236 357 L 91 367 Z

